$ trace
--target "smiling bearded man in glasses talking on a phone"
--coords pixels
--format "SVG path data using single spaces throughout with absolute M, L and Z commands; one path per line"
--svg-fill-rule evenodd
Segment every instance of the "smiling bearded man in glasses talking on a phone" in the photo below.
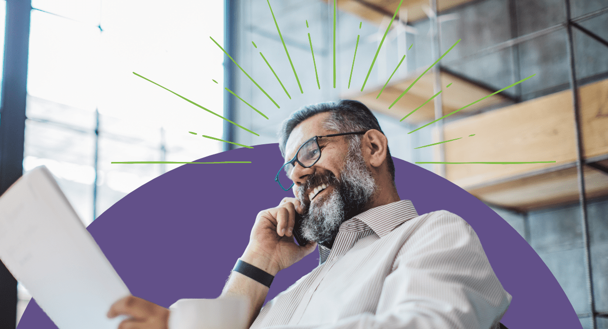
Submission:
M 246 299 L 251 328 L 499 327 L 511 296 L 475 232 L 399 198 L 387 138 L 364 104 L 303 107 L 279 141 L 295 198 L 258 214 L 221 294 Z M 294 243 L 296 212 L 305 246 Z M 317 243 L 320 265 L 262 308 L 272 277 Z M 169 317 L 133 296 L 112 306 L 119 314 L 133 317 L 121 329 L 164 329 Z

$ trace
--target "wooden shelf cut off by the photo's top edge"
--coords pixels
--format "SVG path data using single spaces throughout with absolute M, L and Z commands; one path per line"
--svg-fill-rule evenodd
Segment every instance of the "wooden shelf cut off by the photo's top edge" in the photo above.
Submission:
M 333 5 L 331 0 L 323 0 Z M 457 5 L 471 2 L 472 0 L 438 0 L 437 7 L 439 12 L 447 10 Z M 382 19 L 389 19 L 395 14 L 395 9 L 399 5 L 399 0 L 337 0 L 336 6 L 340 10 L 352 13 L 373 24 L 380 25 Z M 427 18 L 423 7 L 429 7 L 428 0 L 404 0 L 401 4 L 402 10 L 407 9 L 407 20 L 417 21 Z M 399 13 L 397 13 L 399 15 Z M 395 17 L 397 19 L 398 16 Z

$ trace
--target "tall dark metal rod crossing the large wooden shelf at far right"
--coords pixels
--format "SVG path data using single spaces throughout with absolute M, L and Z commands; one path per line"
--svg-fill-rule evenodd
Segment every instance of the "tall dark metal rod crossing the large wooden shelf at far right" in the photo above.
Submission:
M 582 143 L 582 123 L 581 109 L 579 104 L 578 86 L 576 84 L 576 61 L 575 49 L 572 33 L 572 22 L 570 19 L 570 1 L 564 0 L 566 5 L 566 32 L 567 32 L 567 49 L 568 49 L 568 64 L 570 71 L 570 88 L 572 89 L 572 107 L 575 120 L 576 134 L 576 173 L 578 177 L 578 192 L 579 205 L 581 206 L 581 224 L 582 224 L 582 241 L 584 243 L 585 265 L 587 269 L 587 294 L 589 294 L 589 307 L 591 311 L 592 328 L 597 328 L 595 319 L 595 296 L 593 294 L 593 269 L 591 263 L 591 250 L 589 241 L 589 219 L 587 218 L 587 199 L 585 195 L 585 178 L 584 178 L 584 145 Z

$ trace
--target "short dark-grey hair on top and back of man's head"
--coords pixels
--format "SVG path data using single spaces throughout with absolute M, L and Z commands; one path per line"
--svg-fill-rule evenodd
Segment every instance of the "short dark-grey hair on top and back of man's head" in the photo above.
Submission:
M 359 101 L 340 100 L 339 102 L 303 106 L 283 121 L 281 129 L 278 132 L 278 145 L 283 157 L 285 157 L 285 145 L 294 128 L 302 123 L 302 121 L 325 112 L 330 112 L 330 117 L 325 120 L 323 127 L 330 131 L 341 133 L 376 129 L 377 131 L 382 132 L 378 119 L 376 119 L 367 106 Z M 384 132 L 382 132 L 382 134 L 384 134 Z M 345 137 L 348 139 L 348 147 L 350 150 L 354 151 L 355 149 L 361 149 L 361 135 L 347 135 Z M 388 146 L 386 155 L 389 172 L 394 184 L 395 164 L 393 163 L 393 158 L 390 156 Z

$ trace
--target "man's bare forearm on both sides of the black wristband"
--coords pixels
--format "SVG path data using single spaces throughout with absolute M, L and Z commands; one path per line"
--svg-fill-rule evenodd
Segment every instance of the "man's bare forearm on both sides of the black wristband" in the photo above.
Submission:
M 243 256 L 241 256 L 241 260 L 272 274 L 272 276 L 275 276 L 278 273 L 278 269 L 271 266 L 269 260 L 252 251 L 246 250 Z M 268 290 L 269 288 L 262 283 L 233 271 L 230 274 L 220 297 L 237 296 L 244 297 L 244 299 L 247 300 L 247 328 L 249 328 L 260 313 Z

